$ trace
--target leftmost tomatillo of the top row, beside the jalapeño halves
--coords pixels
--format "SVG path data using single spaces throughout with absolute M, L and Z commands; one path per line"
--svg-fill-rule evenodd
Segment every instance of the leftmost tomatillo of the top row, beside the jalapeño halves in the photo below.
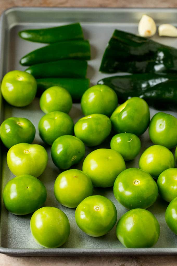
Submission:
M 9 104 L 16 107 L 27 106 L 36 95 L 37 82 L 25 71 L 12 70 L 3 77 L 1 92 Z

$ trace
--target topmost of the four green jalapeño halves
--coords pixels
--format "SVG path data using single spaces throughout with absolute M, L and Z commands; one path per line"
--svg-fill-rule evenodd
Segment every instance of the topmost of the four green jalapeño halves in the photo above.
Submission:
M 29 29 L 20 31 L 19 36 L 36 43 L 56 43 L 63 40 L 84 39 L 80 23 L 73 23 L 44 29 Z

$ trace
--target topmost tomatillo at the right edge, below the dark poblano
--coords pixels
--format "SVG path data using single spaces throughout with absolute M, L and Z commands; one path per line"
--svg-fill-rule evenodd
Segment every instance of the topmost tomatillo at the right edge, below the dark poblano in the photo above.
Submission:
M 174 148 L 177 145 L 177 119 L 173 115 L 159 112 L 149 124 L 149 137 L 154 144 Z

